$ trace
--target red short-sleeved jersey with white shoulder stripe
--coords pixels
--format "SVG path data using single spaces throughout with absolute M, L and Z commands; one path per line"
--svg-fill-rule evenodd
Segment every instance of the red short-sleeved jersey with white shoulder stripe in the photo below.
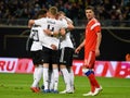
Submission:
M 95 51 L 96 33 L 101 33 L 101 24 L 96 19 L 92 19 L 86 27 L 84 58 L 88 58 L 90 51 Z

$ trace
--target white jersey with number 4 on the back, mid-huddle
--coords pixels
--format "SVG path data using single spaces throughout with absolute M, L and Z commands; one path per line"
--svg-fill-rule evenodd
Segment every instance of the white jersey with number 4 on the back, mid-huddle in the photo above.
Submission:
M 41 25 L 42 29 L 50 29 L 52 32 L 58 32 L 61 28 L 66 28 L 67 24 L 55 19 L 40 19 L 36 20 L 35 24 Z M 44 37 L 41 38 L 42 46 L 52 49 L 51 45 L 55 45 L 58 48 L 60 40 L 56 37 L 48 36 L 43 33 Z

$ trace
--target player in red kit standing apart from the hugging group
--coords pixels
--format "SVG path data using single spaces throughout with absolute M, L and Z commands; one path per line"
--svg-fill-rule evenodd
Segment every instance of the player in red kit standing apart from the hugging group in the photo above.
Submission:
M 93 71 L 95 58 L 100 56 L 100 45 L 102 39 L 101 24 L 94 17 L 93 7 L 88 7 L 86 9 L 86 15 L 88 19 L 88 24 L 86 26 L 86 38 L 75 50 L 75 52 L 79 53 L 80 49 L 84 46 L 84 64 L 82 66 L 82 72 L 89 78 L 91 90 L 88 94 L 83 94 L 83 96 L 95 96 L 102 90 L 102 87 L 98 83 Z

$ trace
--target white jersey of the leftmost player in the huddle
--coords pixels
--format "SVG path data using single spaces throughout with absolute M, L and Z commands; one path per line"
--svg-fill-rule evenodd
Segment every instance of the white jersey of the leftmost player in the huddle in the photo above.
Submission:
M 32 38 L 32 45 L 30 51 L 42 50 L 42 45 L 39 41 L 40 34 L 43 33 L 41 26 L 32 26 L 29 38 Z

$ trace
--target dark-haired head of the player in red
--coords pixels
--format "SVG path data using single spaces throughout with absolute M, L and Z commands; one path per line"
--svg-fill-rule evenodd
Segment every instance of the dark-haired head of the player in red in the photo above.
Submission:
M 88 19 L 88 20 L 93 19 L 93 17 L 94 17 L 94 8 L 91 7 L 91 5 L 88 5 L 88 7 L 86 8 L 86 15 L 87 15 L 87 19 Z

